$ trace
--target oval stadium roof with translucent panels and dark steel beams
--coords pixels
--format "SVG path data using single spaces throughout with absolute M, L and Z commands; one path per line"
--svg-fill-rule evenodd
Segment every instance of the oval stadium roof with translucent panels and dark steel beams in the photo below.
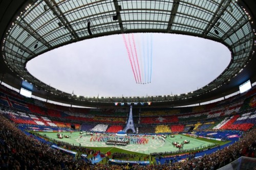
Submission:
M 152 102 L 152 106 L 202 103 L 238 91 L 256 81 L 254 1 L 2 1 L 1 80 L 20 88 L 33 84 L 33 95 L 79 106 L 113 106 L 115 102 Z M 26 63 L 42 53 L 104 35 L 154 32 L 202 37 L 226 45 L 231 62 L 203 88 L 180 95 L 84 98 L 57 90 L 33 77 Z

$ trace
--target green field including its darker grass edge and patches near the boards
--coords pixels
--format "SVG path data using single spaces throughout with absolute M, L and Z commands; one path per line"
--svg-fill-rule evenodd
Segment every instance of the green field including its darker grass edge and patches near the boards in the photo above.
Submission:
M 70 144 L 79 145 L 81 144 L 82 147 L 90 148 L 95 151 L 100 151 L 102 153 L 106 153 L 108 151 L 111 151 L 111 153 L 126 153 L 126 154 L 133 154 L 135 155 L 134 158 L 129 158 L 129 160 L 143 160 L 143 158 L 147 155 L 150 155 L 150 153 L 154 152 L 169 152 L 169 151 L 178 151 L 179 149 L 174 147 L 172 142 L 179 142 L 181 143 L 184 140 L 189 140 L 190 142 L 187 144 L 184 144 L 183 149 L 193 149 L 198 148 L 198 150 L 202 150 L 204 147 L 207 147 L 211 144 L 226 144 L 230 141 L 217 141 L 217 140 L 210 140 L 205 138 L 191 138 L 188 135 L 175 135 L 174 138 L 167 136 L 165 139 L 165 142 L 160 139 L 153 139 L 153 136 L 148 136 L 148 143 L 147 144 L 129 144 L 124 146 L 110 146 L 106 145 L 105 142 L 98 142 L 98 141 L 90 141 L 91 136 L 82 136 L 79 134 L 79 132 L 73 132 L 70 134 L 70 132 L 61 132 L 63 135 L 69 135 L 70 138 L 57 138 L 57 132 L 38 132 L 40 135 L 44 136 L 46 135 L 50 139 L 55 139 L 58 141 L 68 142 Z M 201 149 L 202 148 L 202 149 Z M 167 155 L 177 155 L 177 154 L 167 154 Z M 88 158 L 90 159 L 92 155 L 88 155 Z M 121 160 L 125 160 L 125 158 L 118 158 Z M 153 162 L 156 161 L 155 157 L 150 156 L 150 159 L 153 160 Z M 106 163 L 106 158 L 103 158 L 102 161 L 99 163 Z

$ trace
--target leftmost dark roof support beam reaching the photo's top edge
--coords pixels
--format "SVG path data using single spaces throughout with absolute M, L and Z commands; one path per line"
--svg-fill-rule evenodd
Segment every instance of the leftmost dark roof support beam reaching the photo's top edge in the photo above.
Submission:
M 69 30 L 69 32 L 72 34 L 72 36 L 78 41 L 79 36 L 76 34 L 75 30 L 69 23 L 66 16 L 63 14 L 63 12 L 59 9 L 57 6 L 57 3 L 54 0 L 44 0 L 47 6 L 52 10 L 53 14 L 60 20 L 61 24 Z

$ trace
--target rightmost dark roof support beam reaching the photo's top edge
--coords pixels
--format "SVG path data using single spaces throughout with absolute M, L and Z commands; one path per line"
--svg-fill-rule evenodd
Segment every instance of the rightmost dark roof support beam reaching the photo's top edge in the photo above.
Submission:
M 222 0 L 218 9 L 216 10 L 214 16 L 212 16 L 211 20 L 208 22 L 208 25 L 203 31 L 203 38 L 210 32 L 210 30 L 215 26 L 221 15 L 226 11 L 226 9 L 230 6 L 231 0 Z

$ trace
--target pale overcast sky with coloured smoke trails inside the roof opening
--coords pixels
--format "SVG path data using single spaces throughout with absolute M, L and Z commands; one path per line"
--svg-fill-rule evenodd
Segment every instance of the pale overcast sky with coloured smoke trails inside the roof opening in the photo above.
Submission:
M 27 69 L 79 96 L 154 96 L 195 91 L 216 79 L 230 58 L 228 48 L 215 41 L 138 33 L 65 45 L 30 60 Z

